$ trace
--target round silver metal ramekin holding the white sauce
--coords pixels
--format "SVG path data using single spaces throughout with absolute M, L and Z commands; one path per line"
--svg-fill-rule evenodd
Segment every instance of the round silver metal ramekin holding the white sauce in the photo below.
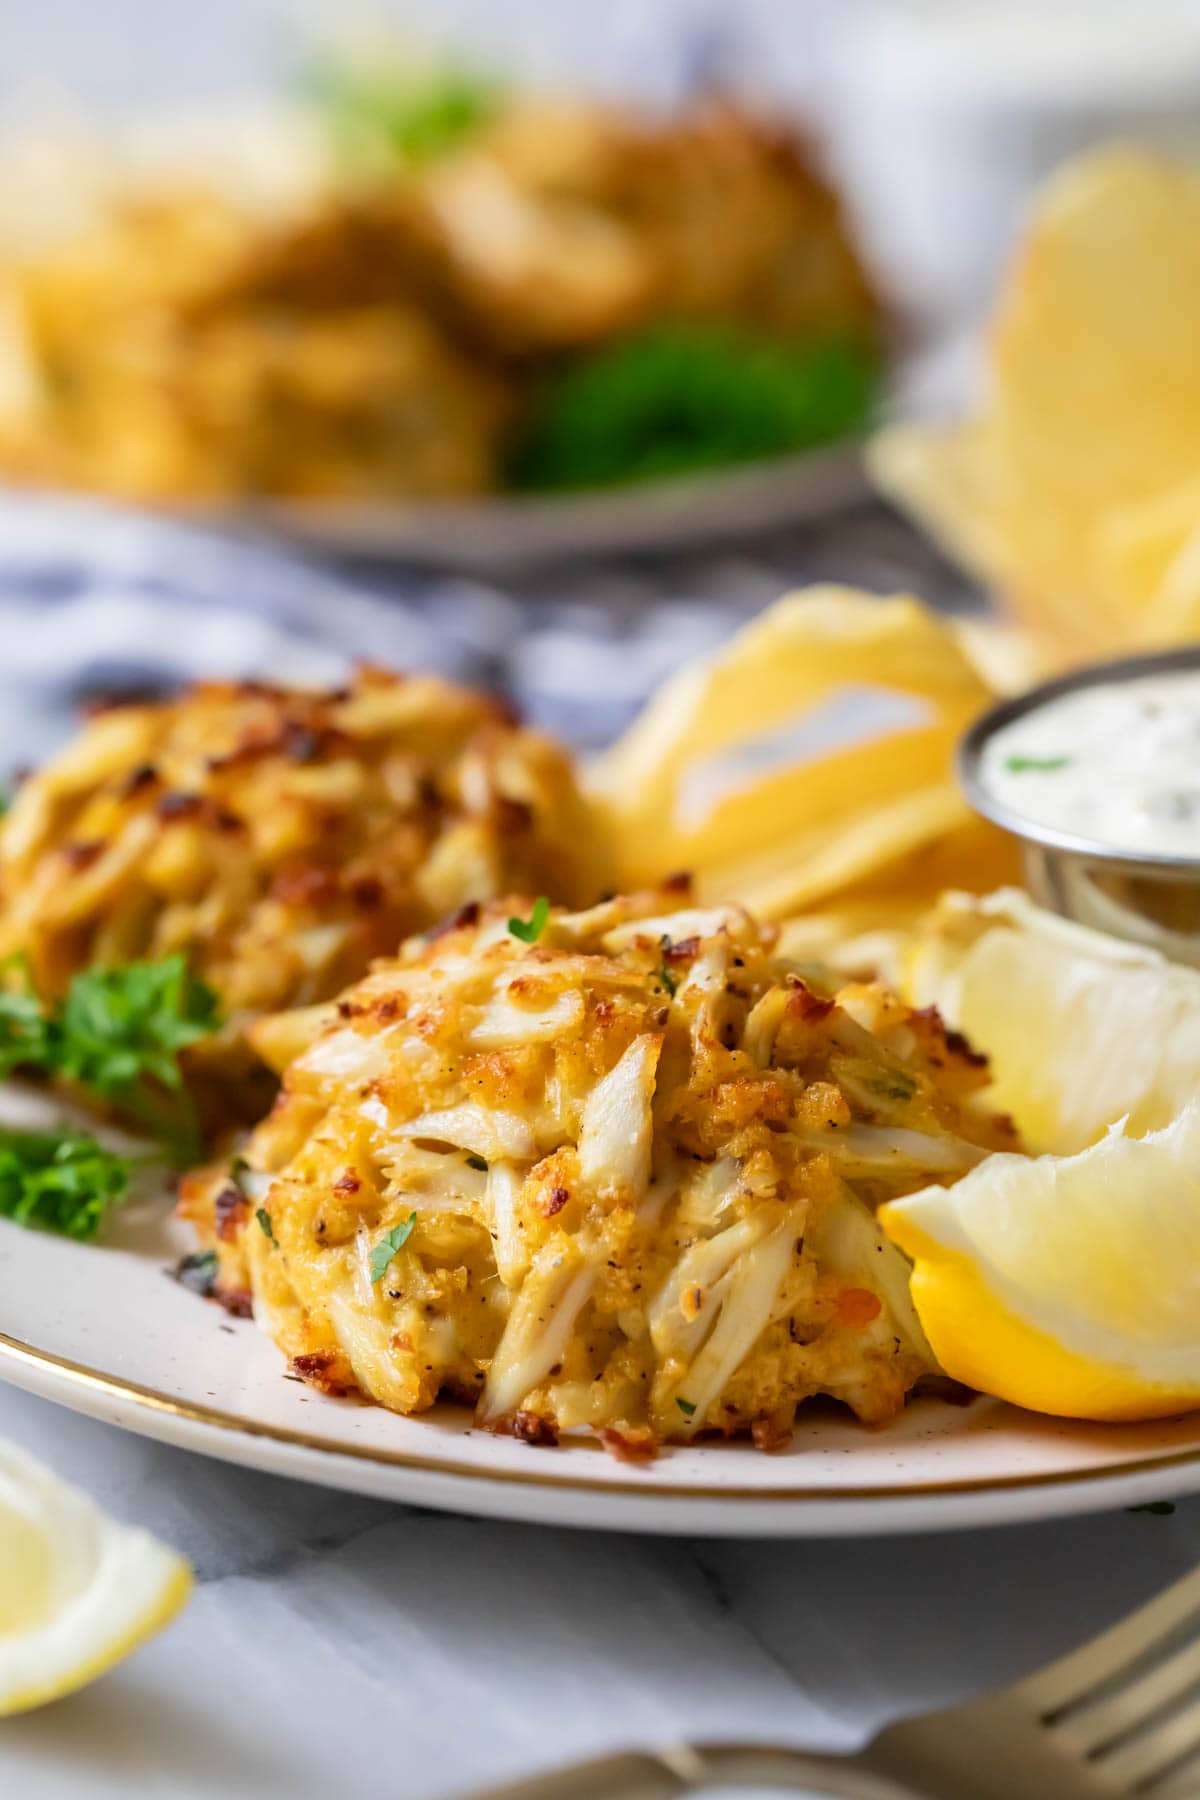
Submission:
M 1061 693 L 1139 675 L 1200 668 L 1200 644 L 1155 655 L 1094 662 L 1043 682 L 1015 700 L 1002 700 L 977 718 L 959 745 L 957 774 L 968 801 L 986 819 L 1020 841 L 1025 878 L 1034 900 L 1079 925 L 1150 945 L 1177 963 L 1200 967 L 1200 855 L 1153 857 L 1112 850 L 1074 837 L 1038 819 L 1025 819 L 988 792 L 981 779 L 982 747 L 1000 725 L 1045 706 Z

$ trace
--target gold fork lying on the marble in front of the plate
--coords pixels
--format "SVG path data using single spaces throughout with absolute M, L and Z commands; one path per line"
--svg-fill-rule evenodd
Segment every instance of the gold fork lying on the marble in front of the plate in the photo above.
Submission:
M 475 1800 L 682 1800 L 730 1786 L 844 1800 L 1198 1800 L 1200 1570 L 1070 1656 L 900 1719 L 853 1757 L 678 1744 Z

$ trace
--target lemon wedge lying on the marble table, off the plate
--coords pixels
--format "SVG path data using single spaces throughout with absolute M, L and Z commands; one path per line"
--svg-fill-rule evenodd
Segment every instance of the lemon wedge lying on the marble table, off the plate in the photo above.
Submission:
M 191 1570 L 0 1445 L 0 1715 L 59 1699 L 178 1613 Z

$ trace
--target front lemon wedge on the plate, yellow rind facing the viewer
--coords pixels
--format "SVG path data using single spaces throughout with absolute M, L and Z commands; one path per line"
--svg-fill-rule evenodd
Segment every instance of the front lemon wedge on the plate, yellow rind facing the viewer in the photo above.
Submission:
M 990 1156 L 880 1208 L 948 1375 L 1038 1413 L 1200 1408 L 1200 1102 L 1076 1156 Z

